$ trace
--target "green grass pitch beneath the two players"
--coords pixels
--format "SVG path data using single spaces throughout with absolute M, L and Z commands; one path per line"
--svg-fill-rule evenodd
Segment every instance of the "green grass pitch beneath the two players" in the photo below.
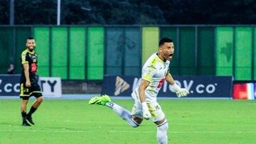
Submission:
M 28 108 L 30 108 L 31 99 Z M 105 106 L 88 100 L 46 99 L 21 126 L 21 100 L 0 100 L 0 143 L 157 143 L 156 126 L 132 128 Z M 132 109 L 132 100 L 114 100 Z M 169 143 L 256 143 L 256 101 L 159 100 L 169 121 Z

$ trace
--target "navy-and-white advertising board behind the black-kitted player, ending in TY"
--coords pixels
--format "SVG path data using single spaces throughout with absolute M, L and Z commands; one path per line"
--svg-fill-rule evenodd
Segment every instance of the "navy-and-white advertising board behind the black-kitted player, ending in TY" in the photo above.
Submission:
M 0 96 L 18 96 L 20 91 L 20 74 L 0 74 Z M 60 77 L 40 77 L 39 85 L 43 90 L 43 96 L 60 97 Z

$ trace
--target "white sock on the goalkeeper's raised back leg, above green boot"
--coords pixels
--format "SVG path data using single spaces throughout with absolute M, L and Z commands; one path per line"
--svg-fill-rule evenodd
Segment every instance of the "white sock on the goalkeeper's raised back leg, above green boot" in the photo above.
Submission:
M 124 109 L 118 104 L 114 104 L 112 102 L 107 102 L 106 106 L 110 107 L 115 113 L 118 114 L 120 118 L 124 119 L 124 121 L 127 121 L 129 126 L 132 126 L 134 128 L 139 126 L 139 123 L 132 119 L 132 115 L 129 111 L 127 111 L 127 109 Z

